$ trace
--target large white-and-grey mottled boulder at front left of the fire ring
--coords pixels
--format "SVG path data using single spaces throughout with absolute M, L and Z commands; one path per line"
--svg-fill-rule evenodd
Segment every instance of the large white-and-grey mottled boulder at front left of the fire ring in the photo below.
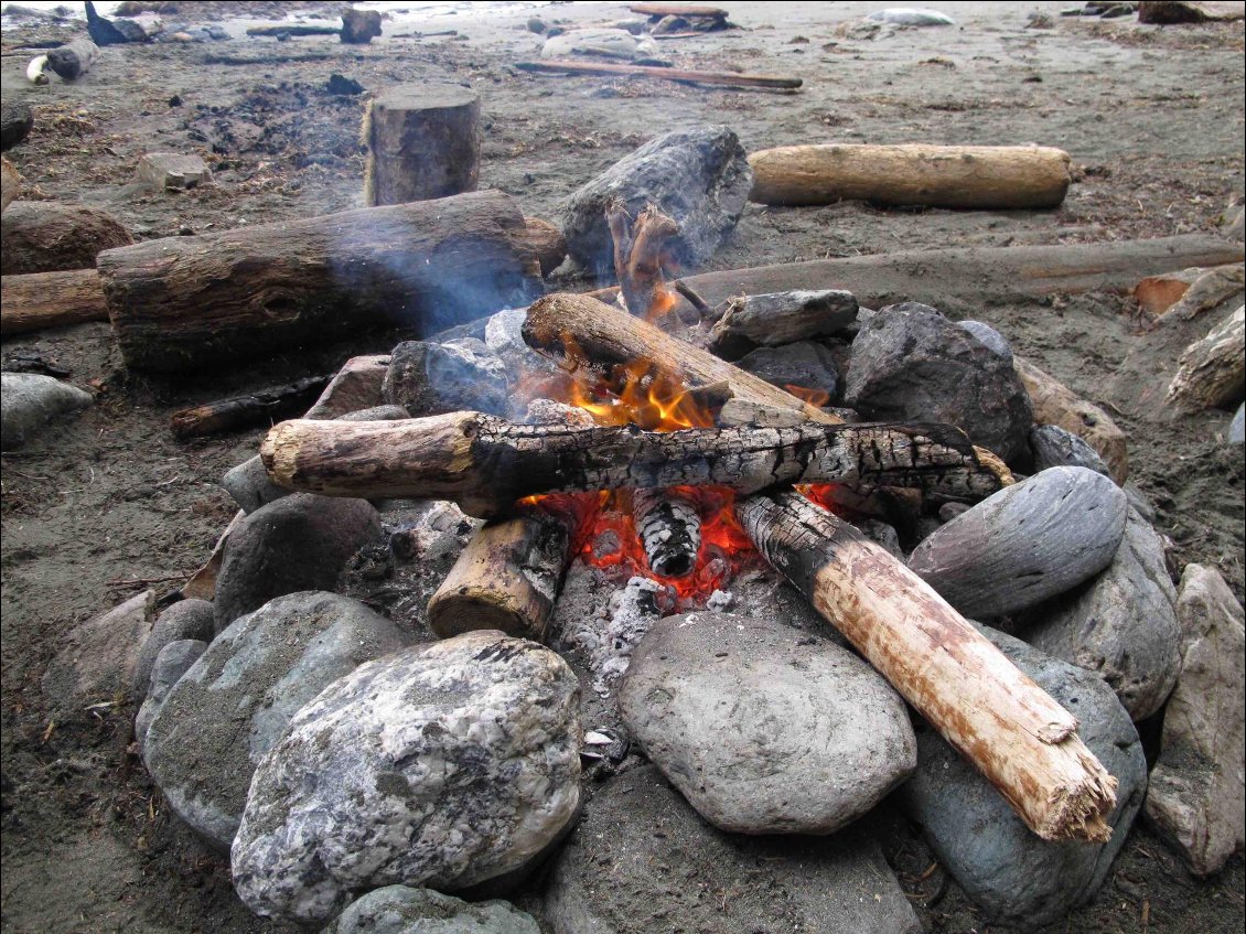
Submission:
M 497 631 L 360 666 L 290 721 L 255 772 L 234 888 L 323 922 L 360 890 L 461 890 L 525 866 L 579 802 L 579 680 Z

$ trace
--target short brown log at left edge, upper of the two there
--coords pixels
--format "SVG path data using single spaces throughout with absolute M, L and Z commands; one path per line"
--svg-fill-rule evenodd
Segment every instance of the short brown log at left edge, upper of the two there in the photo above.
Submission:
M 103 250 L 135 242 L 113 217 L 82 204 L 20 200 L 0 218 L 0 273 L 24 275 L 62 269 L 95 270 Z

